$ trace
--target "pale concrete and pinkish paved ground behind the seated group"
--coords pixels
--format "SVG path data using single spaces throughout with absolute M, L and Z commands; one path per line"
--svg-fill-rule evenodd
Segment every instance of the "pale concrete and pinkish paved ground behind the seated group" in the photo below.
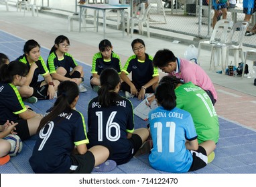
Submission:
M 0 29 L 21 37 L 22 39 L 35 39 L 50 49 L 54 45 L 54 39 L 58 35 L 66 35 L 70 39 L 71 47 L 69 52 L 79 61 L 90 65 L 92 56 L 99 51 L 98 45 L 103 39 L 103 27 L 99 27 L 97 33 L 94 29 L 82 29 L 78 32 L 78 21 L 74 21 L 74 31 L 68 32 L 67 17 L 65 15 L 40 13 L 39 17 L 32 17 L 31 12 L 17 12 L 15 7 L 6 11 L 4 5 L 0 5 Z M 115 27 L 116 28 L 116 27 Z M 146 37 L 145 35 L 134 34 L 133 38 L 125 35 L 122 37 L 120 30 L 114 27 L 107 27 L 106 37 L 113 44 L 113 51 L 121 57 L 122 64 L 127 58 L 133 55 L 131 41 L 141 38 L 145 41 L 146 52 L 155 55 L 156 51 L 163 48 L 171 49 L 177 57 L 184 57 L 188 45 L 194 43 L 194 38 L 168 31 L 150 29 L 152 35 L 157 33 L 158 37 Z M 180 43 L 174 43 L 174 40 Z M 244 50 L 251 49 L 244 47 Z M 1 49 L 0 49 L 1 51 Z M 216 73 L 216 70 L 208 70 L 210 63 L 210 51 L 203 49 L 200 57 L 201 67 L 208 73 L 218 93 L 216 112 L 219 116 L 234 120 L 239 124 L 256 129 L 256 122 L 253 114 L 256 110 L 256 86 L 254 79 L 241 77 L 229 77 Z M 232 60 L 232 57 L 229 58 Z M 252 69 L 252 61 L 248 61 L 249 69 Z M 89 72 L 88 72 L 89 73 Z M 161 75 L 164 75 L 162 73 Z M 235 110 L 234 110 L 235 109 Z

